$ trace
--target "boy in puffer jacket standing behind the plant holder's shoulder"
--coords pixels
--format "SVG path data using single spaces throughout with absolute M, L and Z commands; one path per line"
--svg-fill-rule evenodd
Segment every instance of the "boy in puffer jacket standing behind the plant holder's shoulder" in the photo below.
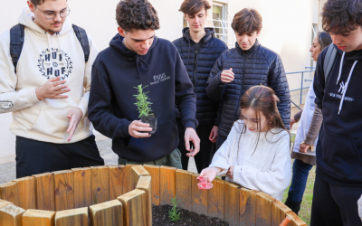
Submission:
M 202 144 L 200 152 L 195 155 L 198 172 L 211 164 L 214 155 L 213 143 L 216 141 L 218 130 L 218 124 L 215 122 L 218 103 L 207 97 L 205 84 L 214 62 L 227 50 L 226 44 L 214 37 L 214 28 L 205 27 L 207 10 L 210 8 L 211 5 L 206 0 L 185 0 L 179 11 L 184 13 L 189 27 L 182 31 L 182 38 L 174 41 L 196 94 L 196 119 L 199 121 L 196 132 Z M 177 106 L 176 121 L 181 141 L 177 148 L 182 153 L 182 166 L 187 170 L 189 158 L 182 141 L 185 135 Z

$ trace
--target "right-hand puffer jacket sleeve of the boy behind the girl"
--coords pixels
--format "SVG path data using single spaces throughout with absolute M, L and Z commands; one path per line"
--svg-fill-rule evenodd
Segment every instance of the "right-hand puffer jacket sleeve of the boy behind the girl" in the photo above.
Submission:
M 270 63 L 269 86 L 280 99 L 278 110 L 287 129 L 291 129 L 291 93 L 281 57 L 276 55 Z

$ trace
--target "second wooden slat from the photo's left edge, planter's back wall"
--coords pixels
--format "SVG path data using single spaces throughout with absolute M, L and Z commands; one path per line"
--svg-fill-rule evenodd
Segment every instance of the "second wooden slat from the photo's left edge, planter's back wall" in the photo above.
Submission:
M 26 176 L 14 180 L 17 202 L 14 204 L 24 210 L 36 209 L 35 178 Z

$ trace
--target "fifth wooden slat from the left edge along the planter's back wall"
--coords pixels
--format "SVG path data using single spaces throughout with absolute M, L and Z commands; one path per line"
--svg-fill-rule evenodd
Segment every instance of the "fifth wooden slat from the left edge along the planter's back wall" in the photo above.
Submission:
M 74 208 L 91 205 L 90 167 L 71 169 L 74 176 Z

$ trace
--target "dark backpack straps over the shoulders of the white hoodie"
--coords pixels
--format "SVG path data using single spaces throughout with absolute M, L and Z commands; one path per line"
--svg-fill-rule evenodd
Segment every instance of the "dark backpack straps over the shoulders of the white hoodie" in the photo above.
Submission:
M 79 42 L 81 42 L 81 48 L 84 52 L 85 62 L 88 62 L 90 58 L 90 42 L 88 41 L 88 36 L 85 30 L 75 24 L 72 24 L 75 36 Z M 19 61 L 20 54 L 22 53 L 24 45 L 24 25 L 16 24 L 10 29 L 10 56 L 12 58 L 15 74 L 16 74 L 16 65 Z

